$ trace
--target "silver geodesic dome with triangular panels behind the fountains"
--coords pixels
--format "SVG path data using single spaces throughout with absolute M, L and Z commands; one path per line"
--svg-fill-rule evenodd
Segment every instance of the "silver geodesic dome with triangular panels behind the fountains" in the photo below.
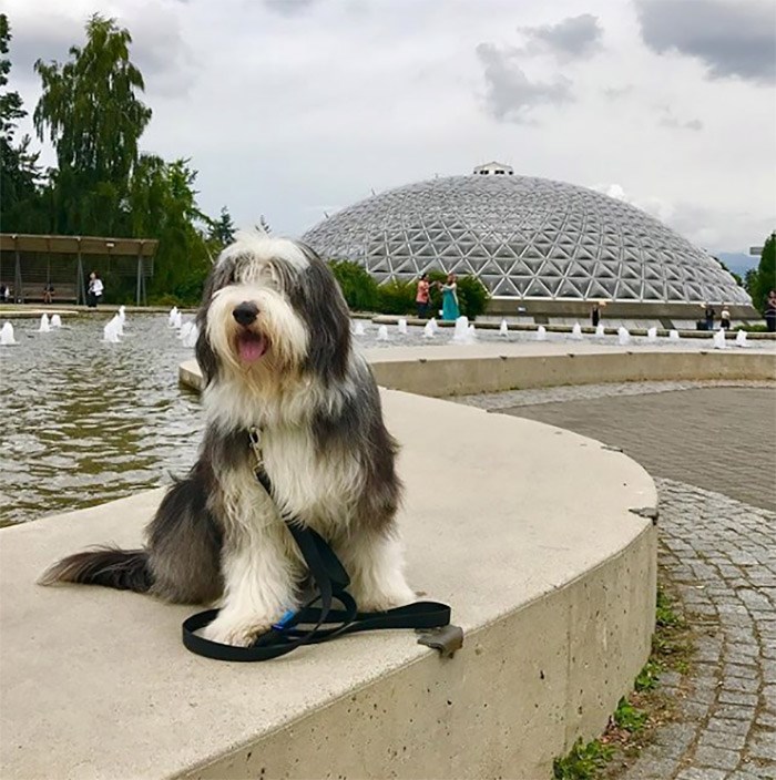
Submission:
M 639 208 L 530 176 L 409 184 L 338 212 L 303 239 L 378 281 L 439 268 L 474 274 L 497 297 L 751 305 L 714 258 Z

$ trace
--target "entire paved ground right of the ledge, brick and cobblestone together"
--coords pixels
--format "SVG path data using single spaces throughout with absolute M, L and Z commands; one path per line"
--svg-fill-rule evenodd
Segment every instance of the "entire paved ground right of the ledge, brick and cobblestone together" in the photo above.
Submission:
M 776 780 L 776 394 L 724 384 L 469 399 L 621 447 L 655 478 L 660 577 L 682 599 L 695 653 L 687 677 L 661 678 L 676 720 L 621 780 Z

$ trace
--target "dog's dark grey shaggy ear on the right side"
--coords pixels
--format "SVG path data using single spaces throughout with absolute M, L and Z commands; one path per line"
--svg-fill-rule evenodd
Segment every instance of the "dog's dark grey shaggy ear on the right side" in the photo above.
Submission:
M 302 245 L 302 249 L 309 265 L 294 286 L 290 301 L 309 332 L 305 368 L 326 384 L 339 382 L 350 360 L 350 312 L 328 266 L 309 247 Z

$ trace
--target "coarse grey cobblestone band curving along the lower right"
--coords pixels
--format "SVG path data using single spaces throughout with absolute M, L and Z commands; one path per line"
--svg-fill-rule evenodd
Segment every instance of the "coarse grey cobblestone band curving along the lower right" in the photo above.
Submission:
M 677 720 L 622 780 L 776 778 L 776 513 L 657 480 L 660 567 L 698 637 Z

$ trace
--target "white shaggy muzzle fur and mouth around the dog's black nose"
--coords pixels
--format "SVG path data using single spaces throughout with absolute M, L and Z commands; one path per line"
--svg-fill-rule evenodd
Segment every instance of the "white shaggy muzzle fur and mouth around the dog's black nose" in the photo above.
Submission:
M 249 325 L 241 325 L 234 310 L 253 304 L 258 312 Z M 282 292 L 261 285 L 229 285 L 215 292 L 207 311 L 207 338 L 222 365 L 245 374 L 288 373 L 307 355 L 308 332 L 304 321 Z

